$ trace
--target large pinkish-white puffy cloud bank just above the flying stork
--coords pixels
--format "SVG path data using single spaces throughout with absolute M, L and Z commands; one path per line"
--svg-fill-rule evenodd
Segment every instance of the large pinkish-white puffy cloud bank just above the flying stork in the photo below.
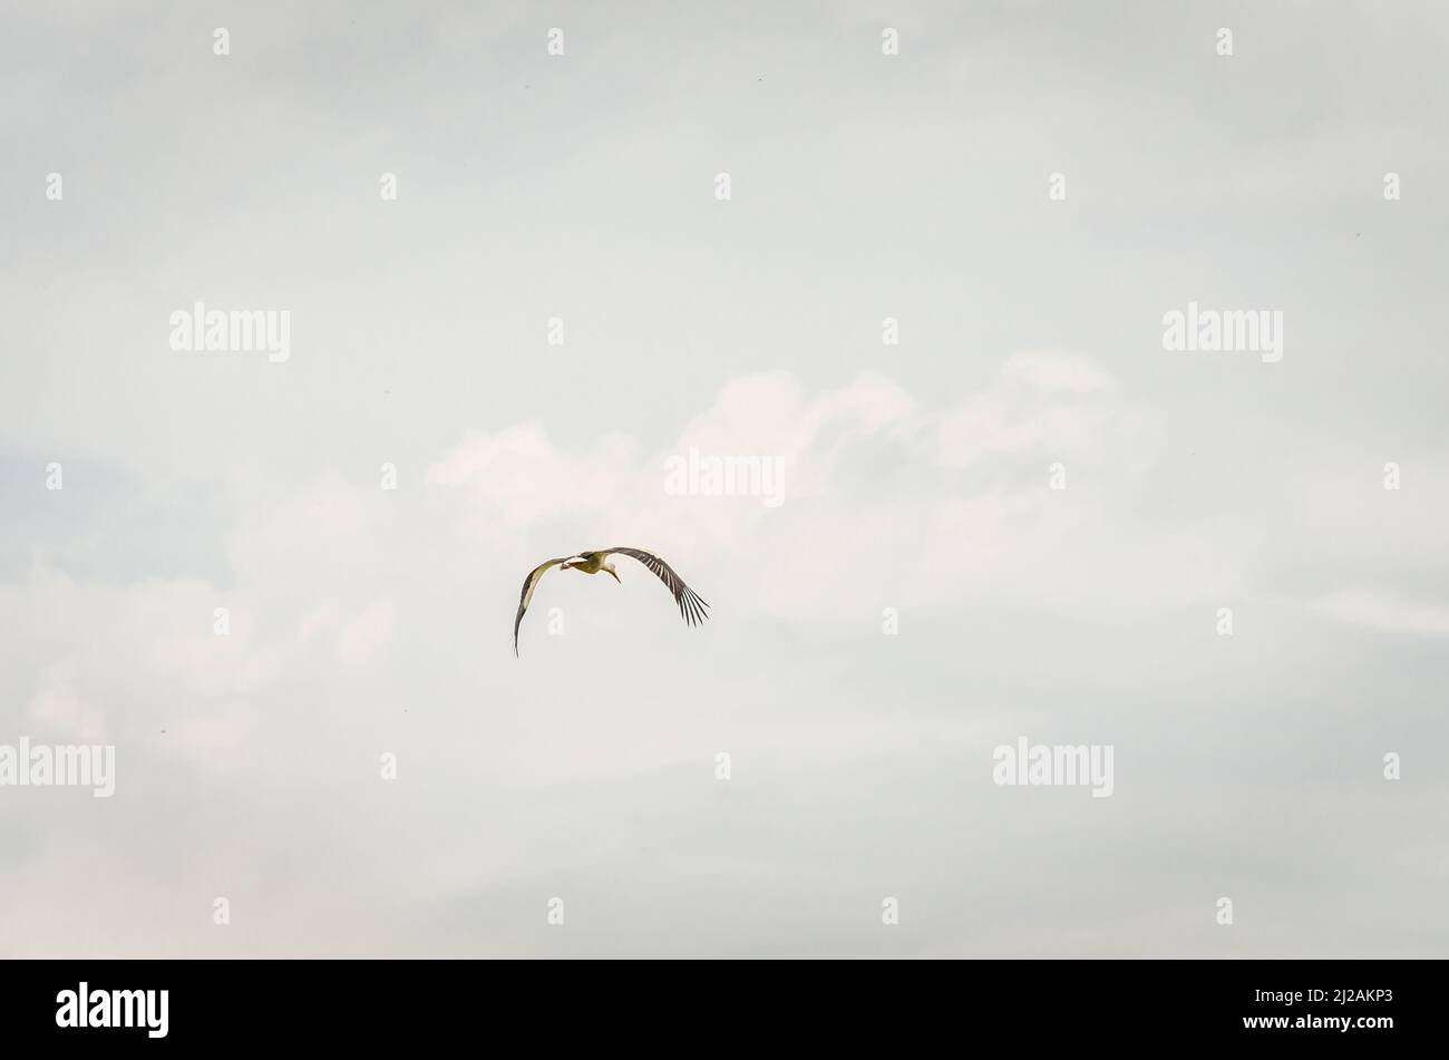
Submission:
M 1123 578 L 1153 589 L 1136 591 L 1133 605 L 1203 591 L 1162 576 L 1181 540 L 1122 520 L 1161 445 L 1161 418 L 1094 361 L 1027 350 L 942 411 L 874 372 L 813 395 L 768 372 L 724 382 L 668 449 L 625 434 L 568 447 L 538 426 L 471 432 L 427 482 L 465 498 L 484 540 L 572 527 L 582 540 L 640 543 L 681 565 L 710 558 L 716 582 L 746 608 L 778 615 L 964 592 L 1100 608 Z M 664 463 L 690 449 L 778 459 L 784 504 L 668 495 Z M 1049 485 L 1055 463 L 1064 491 Z M 871 571 L 888 572 L 888 600 L 884 586 L 869 595 Z

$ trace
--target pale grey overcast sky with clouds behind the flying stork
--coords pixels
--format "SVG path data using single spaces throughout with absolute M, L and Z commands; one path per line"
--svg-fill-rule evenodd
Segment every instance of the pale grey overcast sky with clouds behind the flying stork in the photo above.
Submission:
M 0 20 L 0 956 L 1449 953 L 1442 3 Z

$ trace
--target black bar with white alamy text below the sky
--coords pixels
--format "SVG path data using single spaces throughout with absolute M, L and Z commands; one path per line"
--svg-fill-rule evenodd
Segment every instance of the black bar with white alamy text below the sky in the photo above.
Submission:
M 607 964 L 607 967 L 606 967 Z M 7 1044 L 443 1046 L 459 1032 L 600 1044 L 674 1028 L 703 1040 L 778 1025 L 862 1044 L 924 1030 L 984 1044 L 1375 1048 L 1442 1038 L 1442 962 L 472 962 L 36 960 L 0 964 Z M 674 962 L 668 962 L 674 964 Z M 58 1025 L 130 1008 L 133 1027 Z M 116 990 L 154 990 L 116 998 Z M 159 1001 L 165 990 L 165 1034 Z M 68 992 L 68 993 L 67 993 Z M 106 1001 L 97 1001 L 104 993 Z M 74 996 L 75 1005 L 64 1011 Z M 119 1002 L 119 1004 L 116 1004 Z M 145 1018 L 151 1017 L 149 1022 Z M 1249 1021 L 1253 1021 L 1249 1025 Z M 1345 1025 L 1342 1021 L 1348 1021 Z M 693 1031 L 691 1031 L 693 1028 Z M 154 1034 L 156 1032 L 156 1034 Z M 593 1035 L 593 1037 L 591 1037 Z M 894 1037 L 893 1037 L 894 1035 Z M 685 1040 L 678 1040 L 685 1041 Z M 749 1038 L 748 1041 L 755 1041 Z M 490 1048 L 491 1051 L 491 1048 Z

